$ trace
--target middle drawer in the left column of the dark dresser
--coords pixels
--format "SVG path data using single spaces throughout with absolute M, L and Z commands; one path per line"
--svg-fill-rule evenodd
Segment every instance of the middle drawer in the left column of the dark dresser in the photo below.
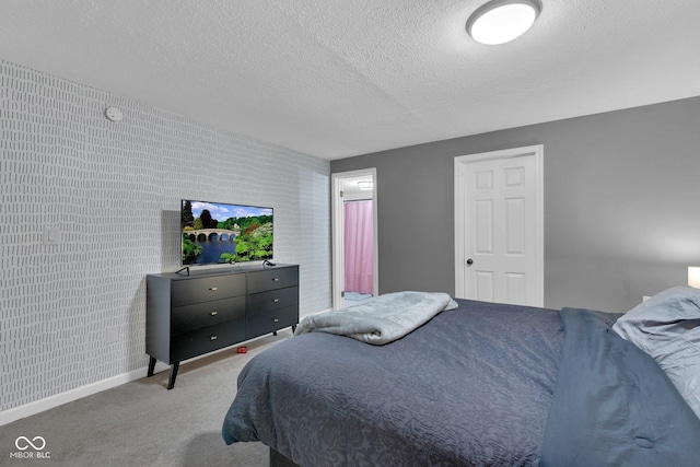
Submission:
M 171 332 L 177 336 L 200 327 L 245 316 L 245 295 L 214 300 L 194 305 L 174 307 L 171 314 Z

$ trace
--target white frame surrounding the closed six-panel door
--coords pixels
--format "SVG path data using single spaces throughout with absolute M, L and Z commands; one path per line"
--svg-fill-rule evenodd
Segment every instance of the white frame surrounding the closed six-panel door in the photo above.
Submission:
M 465 288 L 465 264 L 467 260 L 465 245 L 468 233 L 465 230 L 465 190 L 466 175 L 464 168 L 466 164 L 474 162 L 483 162 L 490 160 L 513 159 L 525 155 L 535 156 L 535 244 L 537 252 L 535 260 L 537 262 L 537 275 L 535 278 L 535 287 L 537 289 L 537 302 L 535 306 L 544 306 L 545 303 L 545 177 L 544 177 L 544 144 L 527 145 L 522 148 L 511 148 L 500 151 L 480 152 L 476 154 L 459 155 L 455 157 L 455 296 L 467 297 Z

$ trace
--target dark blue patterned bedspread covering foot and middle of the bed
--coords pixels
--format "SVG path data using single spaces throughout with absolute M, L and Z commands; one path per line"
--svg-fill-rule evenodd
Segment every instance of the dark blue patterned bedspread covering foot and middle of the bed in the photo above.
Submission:
M 386 346 L 311 332 L 256 355 L 225 441 L 261 441 L 304 467 L 536 463 L 559 313 L 457 303 Z

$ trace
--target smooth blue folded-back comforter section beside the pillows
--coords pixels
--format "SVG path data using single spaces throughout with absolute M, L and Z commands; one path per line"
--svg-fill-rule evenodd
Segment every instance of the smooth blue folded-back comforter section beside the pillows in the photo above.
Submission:
M 611 315 L 561 314 L 565 339 L 541 465 L 700 465 L 700 419 L 654 359 L 610 328 Z

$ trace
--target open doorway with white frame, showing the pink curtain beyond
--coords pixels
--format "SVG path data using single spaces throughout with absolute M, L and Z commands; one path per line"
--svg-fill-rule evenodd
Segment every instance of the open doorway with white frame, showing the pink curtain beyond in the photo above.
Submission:
M 332 307 L 378 294 L 376 168 L 331 174 Z

